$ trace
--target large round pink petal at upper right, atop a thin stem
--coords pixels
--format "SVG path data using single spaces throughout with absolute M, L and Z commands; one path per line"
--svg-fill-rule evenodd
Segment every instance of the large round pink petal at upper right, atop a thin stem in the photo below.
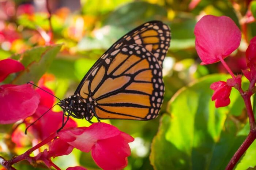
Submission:
M 212 64 L 226 58 L 238 48 L 241 32 L 227 16 L 206 15 L 195 26 L 196 51 L 202 65 Z

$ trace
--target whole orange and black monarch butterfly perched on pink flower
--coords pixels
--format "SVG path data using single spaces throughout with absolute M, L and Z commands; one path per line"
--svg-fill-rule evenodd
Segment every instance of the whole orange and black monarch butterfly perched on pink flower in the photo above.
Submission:
M 58 104 L 64 115 L 89 122 L 93 116 L 98 121 L 157 117 L 170 39 L 169 26 L 161 21 L 144 23 L 118 39 L 86 73 L 74 95 Z

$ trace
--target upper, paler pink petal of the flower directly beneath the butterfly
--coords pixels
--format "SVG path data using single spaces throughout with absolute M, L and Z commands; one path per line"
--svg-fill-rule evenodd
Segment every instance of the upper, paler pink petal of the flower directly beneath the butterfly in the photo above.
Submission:
M 121 133 L 115 126 L 106 123 L 94 123 L 88 128 L 73 128 L 59 132 L 60 138 L 83 151 L 90 152 L 97 140 L 107 139 Z

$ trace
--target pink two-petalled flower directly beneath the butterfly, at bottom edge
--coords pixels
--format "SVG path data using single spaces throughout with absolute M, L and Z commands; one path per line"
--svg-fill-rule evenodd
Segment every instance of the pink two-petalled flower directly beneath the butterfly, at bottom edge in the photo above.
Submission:
M 104 170 L 121 170 L 127 166 L 127 156 L 131 154 L 128 143 L 134 140 L 105 123 L 66 129 L 59 132 L 59 137 L 83 152 L 91 151 L 94 161 Z

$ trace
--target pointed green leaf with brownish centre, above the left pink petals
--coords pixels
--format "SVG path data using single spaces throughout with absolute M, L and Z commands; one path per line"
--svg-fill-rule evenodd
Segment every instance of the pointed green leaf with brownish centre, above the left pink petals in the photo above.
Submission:
M 25 66 L 12 81 L 13 84 L 24 84 L 27 82 L 38 82 L 41 76 L 46 72 L 54 57 L 60 51 L 62 45 L 40 46 L 25 51 L 22 54 L 12 56 L 14 59 L 20 59 Z

